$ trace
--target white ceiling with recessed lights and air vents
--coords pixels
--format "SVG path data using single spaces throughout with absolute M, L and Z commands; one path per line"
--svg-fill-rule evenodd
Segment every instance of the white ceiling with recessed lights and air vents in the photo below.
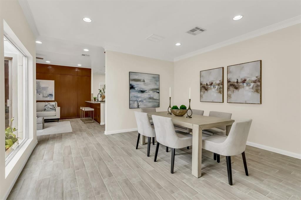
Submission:
M 54 63 L 72 62 L 64 65 L 77 66 L 81 62 L 86 67 L 94 63 L 95 68 L 103 66 L 104 59 L 89 63 L 77 56 L 84 53 L 83 48 L 103 47 L 173 61 L 178 56 L 301 15 L 301 1 L 289 0 L 27 2 L 27 8 L 24 3 L 20 5 L 31 27 L 36 29 L 34 32 L 43 40 L 43 44 L 37 44 L 37 53 Z M 236 15 L 244 17 L 232 20 Z M 83 17 L 92 22 L 84 22 Z M 185 33 L 195 26 L 207 31 L 196 36 Z M 163 39 L 146 40 L 152 34 Z M 182 45 L 175 46 L 177 42 Z M 68 60 L 63 59 L 65 56 Z M 92 57 L 97 58 L 98 53 Z

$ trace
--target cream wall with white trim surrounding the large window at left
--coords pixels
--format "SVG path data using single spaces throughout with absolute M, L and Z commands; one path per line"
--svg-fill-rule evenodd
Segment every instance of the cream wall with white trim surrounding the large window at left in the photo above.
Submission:
M 5 21 L 5 22 L 4 22 Z M 35 37 L 30 30 L 18 1 L 0 1 L 0 71 L 4 71 L 3 32 L 8 33 L 28 58 L 28 133 L 29 140 L 15 155 L 5 169 L 4 137 L 0 137 L 0 199 L 5 199 L 17 179 L 28 156 L 35 147 L 36 140 L 36 45 Z M 33 59 L 34 58 L 34 59 Z M 4 73 L 0 73 L 0 111 L 4 111 Z M 4 112 L 0 112 L 0 127 L 4 127 Z M 26 147 L 26 148 L 25 148 Z M 6 176 L 6 177 L 5 177 Z

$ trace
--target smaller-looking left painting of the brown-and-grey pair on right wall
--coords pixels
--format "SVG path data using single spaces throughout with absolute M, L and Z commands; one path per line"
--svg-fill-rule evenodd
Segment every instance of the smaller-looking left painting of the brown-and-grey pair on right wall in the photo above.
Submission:
M 200 71 L 200 102 L 224 102 L 224 68 Z

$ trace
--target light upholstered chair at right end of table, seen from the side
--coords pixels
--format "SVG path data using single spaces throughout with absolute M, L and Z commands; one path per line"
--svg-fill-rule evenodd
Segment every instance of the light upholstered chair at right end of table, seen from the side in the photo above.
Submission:
M 249 175 L 244 151 L 246 149 L 251 123 L 251 119 L 234 122 L 228 136 L 214 134 L 202 139 L 202 149 L 214 152 L 218 155 L 226 156 L 229 185 L 233 184 L 231 156 L 241 153 L 244 162 L 245 173 L 247 176 Z

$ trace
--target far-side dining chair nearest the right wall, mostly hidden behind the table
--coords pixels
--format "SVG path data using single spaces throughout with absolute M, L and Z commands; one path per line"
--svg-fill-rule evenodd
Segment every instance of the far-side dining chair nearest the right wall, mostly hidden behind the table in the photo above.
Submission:
M 210 111 L 209 117 L 219 117 L 219 118 L 230 120 L 232 117 L 232 113 Z M 212 129 L 204 129 L 202 132 L 202 136 L 207 137 L 207 136 L 213 135 L 213 134 L 224 134 L 225 135 L 225 132 L 224 132 L 225 130 L 226 130 L 226 126 L 216 127 L 216 128 L 212 128 Z M 213 153 L 213 159 L 216 160 L 216 162 L 219 162 L 220 161 L 219 154 Z

